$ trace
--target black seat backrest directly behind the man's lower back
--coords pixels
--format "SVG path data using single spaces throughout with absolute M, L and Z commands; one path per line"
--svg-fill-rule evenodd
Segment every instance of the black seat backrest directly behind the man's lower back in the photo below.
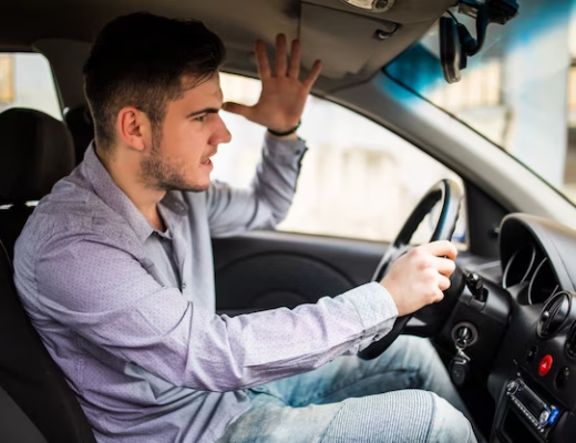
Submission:
M 74 392 L 20 303 L 1 243 L 0 249 L 0 387 L 50 443 L 95 443 Z

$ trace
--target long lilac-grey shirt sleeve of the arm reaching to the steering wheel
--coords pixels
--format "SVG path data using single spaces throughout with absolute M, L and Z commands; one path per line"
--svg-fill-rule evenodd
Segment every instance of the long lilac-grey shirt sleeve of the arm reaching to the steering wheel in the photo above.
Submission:
M 41 309 L 175 385 L 234 391 L 306 372 L 370 344 L 398 315 L 371 282 L 292 310 L 218 316 L 162 287 L 111 241 L 54 241 L 35 265 Z

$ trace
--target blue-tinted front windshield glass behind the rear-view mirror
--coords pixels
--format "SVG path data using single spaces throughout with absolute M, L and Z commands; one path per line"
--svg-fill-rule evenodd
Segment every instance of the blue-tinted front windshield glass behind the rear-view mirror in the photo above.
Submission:
M 576 1 L 517 2 L 518 16 L 488 25 L 459 83 L 442 75 L 438 25 L 385 72 L 576 203 Z M 452 11 L 475 37 L 474 20 Z

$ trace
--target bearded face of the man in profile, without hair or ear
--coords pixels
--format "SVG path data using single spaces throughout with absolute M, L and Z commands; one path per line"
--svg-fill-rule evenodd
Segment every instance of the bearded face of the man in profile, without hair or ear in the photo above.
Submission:
M 195 192 L 209 187 L 214 167 L 210 157 L 218 144 L 230 141 L 230 133 L 218 115 L 222 103 L 218 73 L 168 102 L 162 133 L 154 135 L 141 164 L 142 178 L 148 186 Z

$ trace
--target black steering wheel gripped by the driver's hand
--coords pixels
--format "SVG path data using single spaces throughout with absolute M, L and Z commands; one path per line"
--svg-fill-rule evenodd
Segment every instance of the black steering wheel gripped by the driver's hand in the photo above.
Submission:
M 412 210 L 397 238 L 387 249 L 380 264 L 376 268 L 372 281 L 381 281 L 392 264 L 410 249 L 410 239 L 438 202 L 441 202 L 442 209 L 430 241 L 450 240 L 456 227 L 462 195 L 462 189 L 457 183 L 448 178 L 432 186 L 419 202 L 414 210 Z M 364 360 L 380 356 L 392 344 L 398 336 L 402 333 L 413 316 L 421 320 L 421 324 L 418 328 L 419 336 L 430 337 L 438 331 L 442 322 L 446 319 L 446 316 L 452 311 L 464 287 L 464 276 L 460 269 L 454 271 L 450 280 L 451 286 L 444 291 L 442 301 L 425 306 L 418 312 L 397 318 L 392 330 L 388 332 L 385 337 L 360 351 L 358 356 Z

